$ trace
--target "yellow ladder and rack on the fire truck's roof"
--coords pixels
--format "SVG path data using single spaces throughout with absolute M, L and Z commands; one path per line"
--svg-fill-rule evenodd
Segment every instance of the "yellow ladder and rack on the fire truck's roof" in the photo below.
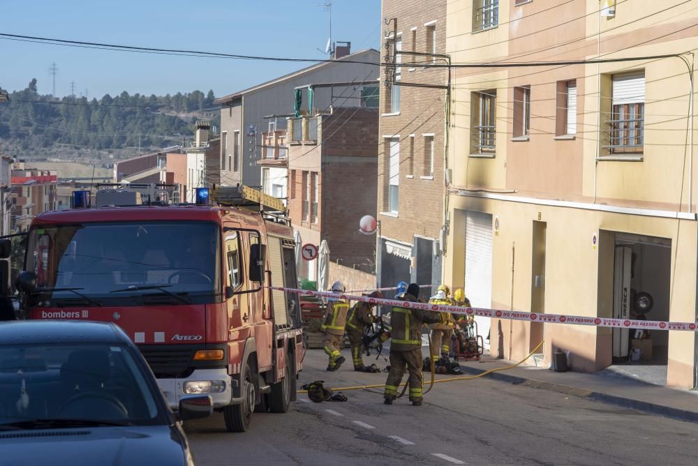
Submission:
M 278 197 L 270 196 L 249 186 L 214 186 L 211 200 L 219 206 L 237 207 L 258 211 L 265 218 L 290 226 L 286 206 Z

